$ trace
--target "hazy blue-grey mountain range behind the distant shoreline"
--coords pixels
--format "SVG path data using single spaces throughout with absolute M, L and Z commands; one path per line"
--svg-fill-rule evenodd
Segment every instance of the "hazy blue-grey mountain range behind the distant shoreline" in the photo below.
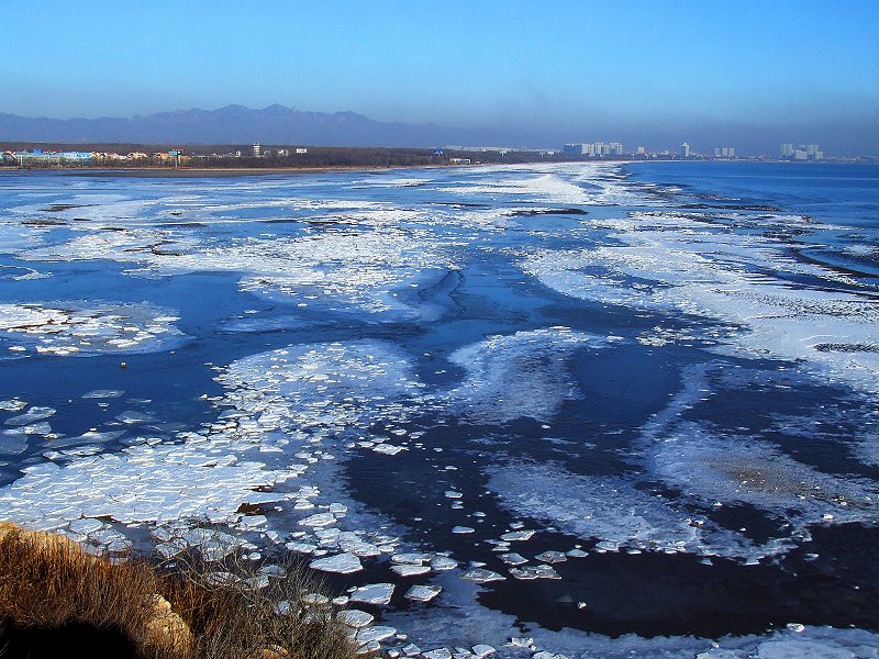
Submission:
M 0 113 L 2 142 L 427 147 L 483 143 L 490 136 L 485 130 L 381 122 L 355 112 L 302 112 L 278 104 L 262 110 L 244 105 L 176 110 L 130 119 L 34 119 Z

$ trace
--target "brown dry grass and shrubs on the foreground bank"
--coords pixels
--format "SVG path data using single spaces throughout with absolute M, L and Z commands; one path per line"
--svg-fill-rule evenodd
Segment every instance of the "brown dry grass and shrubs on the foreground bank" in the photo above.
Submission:
M 286 569 L 259 588 L 256 571 L 233 560 L 219 582 L 191 555 L 173 569 L 146 560 L 112 565 L 66 538 L 7 527 L 0 534 L 0 623 L 7 635 L 70 623 L 119 629 L 134 656 L 148 659 L 354 657 L 332 611 L 304 604 L 313 584 L 302 570 Z M 289 602 L 285 613 L 281 601 Z

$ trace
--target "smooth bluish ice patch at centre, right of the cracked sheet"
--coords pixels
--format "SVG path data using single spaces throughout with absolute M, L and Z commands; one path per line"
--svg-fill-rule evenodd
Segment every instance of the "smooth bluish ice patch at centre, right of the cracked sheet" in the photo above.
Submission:
M 452 354 L 449 360 L 466 369 L 467 378 L 444 398 L 453 411 L 480 423 L 547 420 L 578 395 L 566 358 L 605 345 L 601 337 L 566 327 L 491 336 Z

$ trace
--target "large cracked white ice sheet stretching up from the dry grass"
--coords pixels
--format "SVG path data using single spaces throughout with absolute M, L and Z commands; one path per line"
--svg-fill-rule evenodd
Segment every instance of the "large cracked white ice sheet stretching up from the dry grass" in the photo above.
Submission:
M 319 344 L 255 355 L 218 377 L 224 406 L 244 413 L 233 427 L 183 433 L 183 444 L 135 446 L 116 455 L 41 466 L 0 490 L 0 518 L 24 526 L 105 515 L 119 522 L 204 520 L 234 526 L 243 503 L 294 493 L 254 492 L 305 471 L 267 469 L 251 451 L 398 418 L 403 395 L 419 395 L 409 359 L 382 342 Z M 347 400 L 345 400 L 347 399 Z M 281 429 L 283 432 L 278 433 Z M 256 454 L 262 455 L 262 454 Z M 311 514 L 311 513 L 308 513 Z

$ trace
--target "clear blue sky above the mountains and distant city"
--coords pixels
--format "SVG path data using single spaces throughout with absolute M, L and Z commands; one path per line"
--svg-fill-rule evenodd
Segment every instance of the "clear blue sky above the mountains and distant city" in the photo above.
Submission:
M 25 116 L 280 103 L 570 142 L 879 152 L 879 0 L 4 4 L 0 112 Z

